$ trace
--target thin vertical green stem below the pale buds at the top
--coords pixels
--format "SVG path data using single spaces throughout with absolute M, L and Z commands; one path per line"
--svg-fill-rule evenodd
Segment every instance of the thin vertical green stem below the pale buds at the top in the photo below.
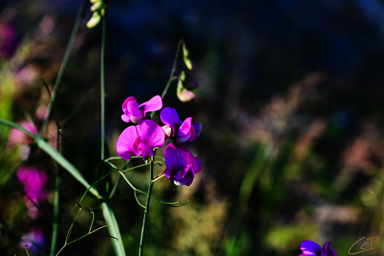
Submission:
M 105 30 L 107 25 L 106 17 L 103 18 L 103 36 L 101 38 L 100 57 L 100 92 L 101 92 L 101 159 L 104 160 L 105 143 L 105 78 L 104 78 L 104 55 L 105 55 Z

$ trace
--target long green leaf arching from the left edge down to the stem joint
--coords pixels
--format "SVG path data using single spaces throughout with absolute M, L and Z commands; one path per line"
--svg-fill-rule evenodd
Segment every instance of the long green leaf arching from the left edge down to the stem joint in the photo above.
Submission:
M 24 127 L 20 126 L 19 124 L 16 124 L 11 121 L 7 121 L 0 118 L 0 124 L 8 127 L 12 127 L 15 129 L 18 129 L 28 136 L 31 136 L 33 139 L 35 139 L 36 144 L 40 149 L 44 150 L 50 157 L 53 158 L 58 164 L 60 164 L 63 168 L 65 168 L 68 172 L 71 173 L 71 175 L 78 180 L 81 184 L 84 185 L 87 189 L 91 187 L 89 183 L 84 179 L 83 175 L 76 169 L 76 167 L 73 166 L 63 155 L 60 154 L 54 147 L 52 147 L 50 144 L 45 142 L 45 140 L 41 139 L 40 137 L 36 136 L 35 134 L 31 133 L 30 131 L 26 130 Z M 98 191 L 94 188 L 90 188 L 89 192 L 91 192 L 93 195 L 95 195 L 97 198 L 101 199 L 101 196 L 99 195 Z

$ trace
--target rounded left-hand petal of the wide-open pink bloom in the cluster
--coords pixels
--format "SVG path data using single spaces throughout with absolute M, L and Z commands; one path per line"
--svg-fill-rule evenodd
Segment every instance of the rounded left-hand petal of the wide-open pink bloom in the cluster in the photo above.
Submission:
M 135 155 L 132 145 L 137 136 L 139 134 L 137 134 L 136 126 L 129 126 L 120 134 L 116 150 L 122 159 L 129 160 Z

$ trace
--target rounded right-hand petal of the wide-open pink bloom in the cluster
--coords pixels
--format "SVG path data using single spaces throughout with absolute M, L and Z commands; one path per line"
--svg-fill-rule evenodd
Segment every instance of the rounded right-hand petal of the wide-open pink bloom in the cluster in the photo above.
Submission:
M 146 119 L 137 124 L 137 133 L 141 139 L 151 148 L 164 145 L 165 132 L 156 122 Z

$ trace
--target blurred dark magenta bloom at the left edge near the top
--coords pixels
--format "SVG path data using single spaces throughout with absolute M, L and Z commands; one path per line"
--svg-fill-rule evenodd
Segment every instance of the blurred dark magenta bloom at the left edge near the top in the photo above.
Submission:
M 17 47 L 17 32 L 12 25 L 0 23 L 0 58 L 10 57 Z

